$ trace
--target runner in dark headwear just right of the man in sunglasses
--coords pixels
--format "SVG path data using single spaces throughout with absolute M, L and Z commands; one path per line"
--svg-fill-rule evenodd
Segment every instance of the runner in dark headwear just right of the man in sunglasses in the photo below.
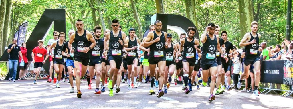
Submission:
M 137 70 L 137 66 L 139 66 L 139 60 L 138 60 L 138 53 L 137 53 L 137 48 L 138 48 L 138 44 L 140 44 L 140 40 L 136 37 L 134 37 L 135 34 L 135 29 L 134 28 L 130 28 L 129 29 L 129 38 L 127 38 L 127 42 L 128 42 L 128 47 L 125 48 L 125 50 L 127 51 L 126 54 L 126 63 L 127 63 L 127 68 L 128 68 L 128 90 L 131 90 L 132 88 L 138 88 L 138 84 L 136 83 L 137 80 L 137 75 L 138 75 L 138 70 Z M 138 44 L 137 44 L 138 43 Z M 134 68 L 134 74 L 132 74 L 132 66 Z M 130 78 L 131 78 L 131 82 L 130 82 Z M 130 85 L 131 83 L 131 85 Z

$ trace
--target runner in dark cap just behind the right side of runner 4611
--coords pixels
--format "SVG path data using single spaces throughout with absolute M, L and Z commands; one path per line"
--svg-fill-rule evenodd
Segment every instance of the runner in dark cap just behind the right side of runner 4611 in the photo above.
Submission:
M 166 48 L 166 67 L 164 71 L 164 93 L 168 94 L 167 92 L 167 83 L 171 82 L 171 76 L 173 76 L 175 71 L 175 60 L 174 56 L 178 55 L 178 49 L 175 44 L 172 42 L 172 34 L 167 34 L 167 41 L 166 44 L 168 44 L 168 48 Z M 176 54 L 174 54 L 174 51 Z M 178 62 L 178 59 L 176 58 L 176 62 Z

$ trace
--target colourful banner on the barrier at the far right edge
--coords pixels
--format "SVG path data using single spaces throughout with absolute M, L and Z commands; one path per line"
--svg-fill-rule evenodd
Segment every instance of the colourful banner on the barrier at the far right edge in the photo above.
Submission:
M 293 85 L 293 61 L 285 60 L 283 84 Z

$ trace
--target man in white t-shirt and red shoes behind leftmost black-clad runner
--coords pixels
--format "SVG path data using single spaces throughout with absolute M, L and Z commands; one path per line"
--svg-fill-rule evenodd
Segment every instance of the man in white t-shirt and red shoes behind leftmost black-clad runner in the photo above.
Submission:
M 49 53 L 50 51 L 50 46 L 54 43 L 54 42 L 57 42 L 59 39 L 58 39 L 58 36 L 59 36 L 59 32 L 57 31 L 54 31 L 53 32 L 53 39 L 50 39 L 48 41 L 48 48 L 47 48 L 47 51 L 48 51 L 48 54 L 49 54 L 49 61 L 50 61 L 50 68 L 49 68 L 49 79 L 47 80 L 47 82 L 51 82 L 52 81 L 52 73 L 53 73 L 53 58 L 52 58 L 52 55 L 51 53 Z M 53 49 L 54 50 L 54 49 Z M 53 83 L 55 84 L 57 82 L 57 75 L 56 73 L 54 73 L 54 80 L 53 80 Z

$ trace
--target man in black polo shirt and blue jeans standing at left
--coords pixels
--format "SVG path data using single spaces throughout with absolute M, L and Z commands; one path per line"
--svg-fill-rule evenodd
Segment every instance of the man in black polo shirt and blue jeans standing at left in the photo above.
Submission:
M 16 82 L 16 71 L 18 66 L 19 57 L 23 60 L 22 53 L 20 50 L 20 46 L 16 44 L 17 40 L 15 38 L 12 39 L 12 44 L 8 45 L 7 52 L 9 53 L 9 81 Z M 19 55 L 18 55 L 19 54 Z

